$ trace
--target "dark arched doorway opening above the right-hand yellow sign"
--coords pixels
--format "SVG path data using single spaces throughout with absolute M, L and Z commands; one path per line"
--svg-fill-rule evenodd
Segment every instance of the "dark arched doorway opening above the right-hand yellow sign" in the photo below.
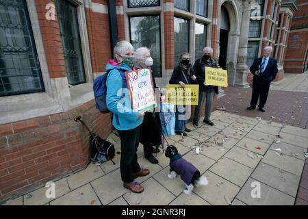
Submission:
M 220 11 L 219 60 L 220 68 L 227 69 L 227 49 L 230 31 L 230 20 L 227 9 L 222 5 Z

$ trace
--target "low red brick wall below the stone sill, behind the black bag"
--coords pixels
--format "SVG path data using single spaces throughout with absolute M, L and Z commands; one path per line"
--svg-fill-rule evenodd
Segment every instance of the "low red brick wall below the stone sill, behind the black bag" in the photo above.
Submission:
M 102 138 L 112 130 L 110 114 L 89 101 L 75 110 L 0 125 L 0 202 L 44 186 L 90 161 L 88 131 L 81 115 Z

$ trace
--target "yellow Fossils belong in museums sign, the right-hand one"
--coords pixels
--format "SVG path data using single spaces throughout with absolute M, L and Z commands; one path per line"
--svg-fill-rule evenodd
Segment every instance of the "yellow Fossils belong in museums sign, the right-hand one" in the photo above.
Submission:
M 218 68 L 205 67 L 205 81 L 208 85 L 228 86 L 228 72 Z

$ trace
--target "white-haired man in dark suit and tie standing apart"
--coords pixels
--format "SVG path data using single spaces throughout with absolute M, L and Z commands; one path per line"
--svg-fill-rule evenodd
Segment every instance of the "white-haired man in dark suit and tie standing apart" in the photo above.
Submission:
M 253 96 L 251 98 L 251 106 L 247 110 L 255 109 L 259 96 L 259 110 L 265 112 L 264 105 L 268 99 L 268 90 L 270 90 L 270 82 L 272 82 L 277 73 L 277 60 L 270 57 L 272 47 L 265 47 L 263 57 L 255 59 L 249 70 L 253 74 Z

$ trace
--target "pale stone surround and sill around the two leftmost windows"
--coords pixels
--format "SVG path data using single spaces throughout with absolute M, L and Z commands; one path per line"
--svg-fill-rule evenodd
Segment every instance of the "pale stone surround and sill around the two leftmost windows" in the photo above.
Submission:
M 38 20 L 35 0 L 26 0 L 29 10 L 29 20 L 34 35 L 34 43 L 42 72 L 44 92 L 2 96 L 0 104 L 0 124 L 12 123 L 18 120 L 48 116 L 66 112 L 94 99 L 92 92 L 93 74 L 86 25 L 85 4 L 88 0 L 66 0 L 77 6 L 81 50 L 84 60 L 86 83 L 70 86 L 67 77 L 51 78 L 44 52 L 44 44 Z M 47 12 L 47 10 L 46 10 Z M 2 104 L 3 103 L 3 104 Z

